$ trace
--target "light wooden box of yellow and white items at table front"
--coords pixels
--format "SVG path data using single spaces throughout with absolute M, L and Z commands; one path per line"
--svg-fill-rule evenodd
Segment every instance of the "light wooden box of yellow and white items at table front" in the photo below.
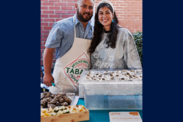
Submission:
M 41 122 L 76 122 L 89 120 L 89 111 L 83 105 L 41 108 Z

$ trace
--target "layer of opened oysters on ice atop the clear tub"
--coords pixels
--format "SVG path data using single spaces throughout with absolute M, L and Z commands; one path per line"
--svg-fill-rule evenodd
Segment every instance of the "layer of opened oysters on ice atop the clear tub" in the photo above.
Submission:
M 133 81 L 142 80 L 142 70 L 88 71 L 87 81 Z

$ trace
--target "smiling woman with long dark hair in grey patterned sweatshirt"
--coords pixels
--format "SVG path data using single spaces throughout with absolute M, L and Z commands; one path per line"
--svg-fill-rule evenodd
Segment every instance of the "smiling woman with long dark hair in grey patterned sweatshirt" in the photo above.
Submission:
M 89 53 L 92 69 L 140 69 L 141 63 L 132 34 L 118 25 L 111 2 L 99 2 L 94 37 Z

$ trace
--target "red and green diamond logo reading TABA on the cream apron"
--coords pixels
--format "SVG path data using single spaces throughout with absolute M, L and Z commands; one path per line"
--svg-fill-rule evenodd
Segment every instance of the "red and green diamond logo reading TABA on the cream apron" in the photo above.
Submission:
M 74 86 L 78 89 L 78 81 L 85 69 L 90 67 L 90 60 L 88 55 L 83 52 L 77 59 L 64 67 L 64 73 L 71 80 Z

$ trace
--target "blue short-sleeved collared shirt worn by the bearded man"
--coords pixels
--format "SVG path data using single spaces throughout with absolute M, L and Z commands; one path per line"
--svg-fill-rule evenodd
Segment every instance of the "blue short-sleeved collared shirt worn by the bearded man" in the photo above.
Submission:
M 84 30 L 83 25 L 76 17 L 76 14 L 73 17 L 75 18 L 76 37 L 92 39 L 91 23 L 88 22 L 86 29 Z M 56 48 L 56 59 L 62 57 L 72 47 L 74 42 L 73 17 L 55 22 L 48 35 L 45 47 Z

